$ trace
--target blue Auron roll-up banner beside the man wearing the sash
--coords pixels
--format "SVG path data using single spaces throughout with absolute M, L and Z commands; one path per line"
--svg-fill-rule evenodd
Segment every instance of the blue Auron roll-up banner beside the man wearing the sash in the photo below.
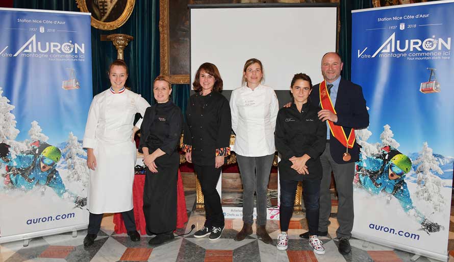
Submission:
M 351 80 L 370 126 L 354 181 L 359 239 L 446 261 L 454 160 L 454 3 L 352 12 Z

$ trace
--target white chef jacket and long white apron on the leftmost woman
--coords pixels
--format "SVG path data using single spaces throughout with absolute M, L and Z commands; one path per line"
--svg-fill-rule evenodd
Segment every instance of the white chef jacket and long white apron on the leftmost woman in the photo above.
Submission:
M 131 140 L 134 117 L 150 105 L 128 89 L 110 88 L 91 102 L 85 127 L 84 148 L 92 148 L 95 170 L 90 169 L 88 210 L 115 213 L 133 209 L 136 144 Z M 136 126 L 140 128 L 142 119 Z

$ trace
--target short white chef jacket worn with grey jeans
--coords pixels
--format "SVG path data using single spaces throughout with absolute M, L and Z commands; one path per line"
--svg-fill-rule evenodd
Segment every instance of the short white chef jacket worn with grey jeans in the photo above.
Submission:
M 274 154 L 274 128 L 279 103 L 274 90 L 266 85 L 254 91 L 246 85 L 232 91 L 230 97 L 232 129 L 236 134 L 234 151 L 241 156 Z

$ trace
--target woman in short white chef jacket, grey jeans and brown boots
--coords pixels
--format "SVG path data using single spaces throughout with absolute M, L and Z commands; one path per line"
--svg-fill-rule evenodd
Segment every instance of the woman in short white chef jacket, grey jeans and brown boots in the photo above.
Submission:
M 256 58 L 243 67 L 243 86 L 232 91 L 232 129 L 236 134 L 234 151 L 243 183 L 243 228 L 235 236 L 242 241 L 252 234 L 254 192 L 257 193 L 257 236 L 270 244 L 266 232 L 266 206 L 269 173 L 274 158 L 274 127 L 279 104 L 274 90 L 262 85 L 263 66 Z

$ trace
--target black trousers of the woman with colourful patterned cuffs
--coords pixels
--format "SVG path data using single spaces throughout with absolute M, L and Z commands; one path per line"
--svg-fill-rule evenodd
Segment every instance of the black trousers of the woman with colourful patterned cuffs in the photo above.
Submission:
M 214 165 L 194 164 L 194 171 L 204 194 L 205 202 L 205 226 L 223 227 L 224 213 L 222 211 L 221 198 L 216 190 L 216 184 L 221 175 L 221 169 Z

